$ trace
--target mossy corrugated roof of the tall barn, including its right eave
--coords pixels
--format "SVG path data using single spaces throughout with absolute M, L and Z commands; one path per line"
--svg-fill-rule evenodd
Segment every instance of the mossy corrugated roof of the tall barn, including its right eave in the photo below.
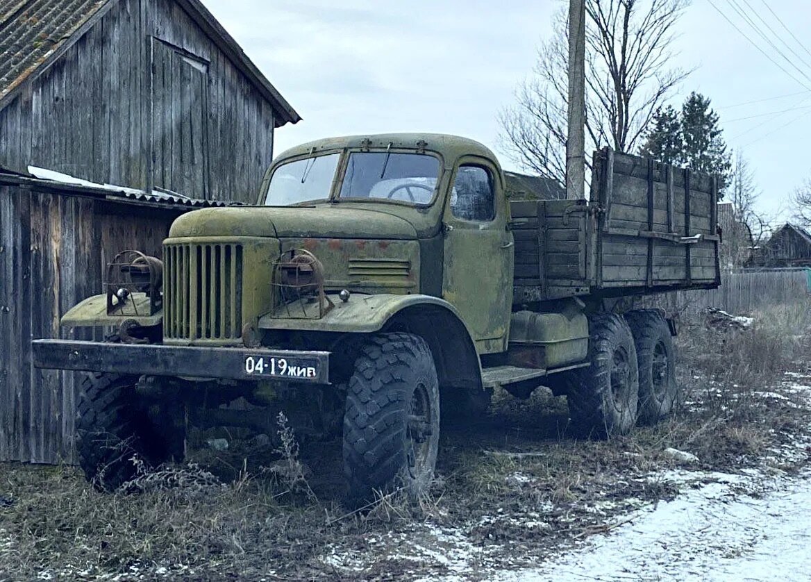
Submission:
M 79 40 L 119 0 L 0 0 L 0 109 L 15 89 Z M 200 0 L 175 0 L 246 75 L 277 112 L 276 126 L 296 123 L 298 113 L 270 84 Z

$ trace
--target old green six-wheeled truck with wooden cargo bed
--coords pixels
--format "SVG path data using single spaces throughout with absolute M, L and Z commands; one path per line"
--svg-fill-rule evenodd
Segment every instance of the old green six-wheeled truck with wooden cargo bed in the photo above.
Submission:
M 676 330 L 634 299 L 719 285 L 717 182 L 607 149 L 592 170 L 590 201 L 508 200 L 496 157 L 461 137 L 282 153 L 255 205 L 182 215 L 161 259 L 121 252 L 62 317 L 108 341 L 33 342 L 36 366 L 90 373 L 88 479 L 182 459 L 190 424 L 273 434 L 285 412 L 343 439 L 354 496 L 418 493 L 440 414 L 465 421 L 496 386 L 565 394 L 586 436 L 671 413 Z

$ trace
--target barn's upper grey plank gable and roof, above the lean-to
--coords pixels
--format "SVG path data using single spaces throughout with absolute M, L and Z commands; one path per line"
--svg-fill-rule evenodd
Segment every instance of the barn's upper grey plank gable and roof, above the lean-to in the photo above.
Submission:
M 0 168 L 249 201 L 298 120 L 200 0 L 0 0 Z

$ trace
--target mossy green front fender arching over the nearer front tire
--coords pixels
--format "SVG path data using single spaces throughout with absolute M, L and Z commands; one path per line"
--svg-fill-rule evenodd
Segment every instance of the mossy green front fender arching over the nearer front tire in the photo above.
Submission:
M 334 331 L 344 334 L 373 333 L 380 331 L 386 322 L 405 308 L 418 305 L 436 305 L 453 313 L 464 324 L 457 309 L 445 300 L 431 295 L 362 295 L 354 293 L 346 302 L 338 295 L 329 295 L 335 307 L 324 317 L 297 318 L 281 317 L 277 313 L 268 313 L 259 319 L 260 330 L 300 330 L 300 331 Z M 465 326 L 467 329 L 467 326 Z M 470 335 L 470 330 L 467 330 Z

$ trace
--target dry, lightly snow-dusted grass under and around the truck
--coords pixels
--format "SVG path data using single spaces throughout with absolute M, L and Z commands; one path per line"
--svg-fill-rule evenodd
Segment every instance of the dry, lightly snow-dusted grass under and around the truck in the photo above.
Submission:
M 402 575 L 394 559 L 352 572 L 320 556 L 328 546 L 371 555 L 372 533 L 413 532 L 424 522 L 461 528 L 483 547 L 508 542 L 531 558 L 601 531 L 611 515 L 672 498 L 676 485 L 657 477 L 679 465 L 667 447 L 697 455 L 698 468 L 734 472 L 809 429 L 807 403 L 762 396 L 779 390 L 784 371 L 809 369 L 809 308 L 754 317 L 753 328 L 740 332 L 684 322 L 684 409 L 629 437 L 576 441 L 566 433 L 565 399 L 546 390 L 527 402 L 499 394 L 491 416 L 444 432 L 440 478 L 418 502 L 395 493 L 363 511 L 343 507 L 337 448 L 299 454 L 284 422 L 275 456 L 238 446 L 204 451 L 216 463 L 140 476 L 129 488 L 137 494 L 98 494 L 76 468 L 0 464 L 0 580 L 43 572 L 149 579 L 161 568 L 189 580 L 390 579 Z M 315 453 L 334 457 L 333 465 Z M 230 468 L 225 484 L 208 472 L 214 465 Z M 546 526 L 526 525 L 538 519 Z

